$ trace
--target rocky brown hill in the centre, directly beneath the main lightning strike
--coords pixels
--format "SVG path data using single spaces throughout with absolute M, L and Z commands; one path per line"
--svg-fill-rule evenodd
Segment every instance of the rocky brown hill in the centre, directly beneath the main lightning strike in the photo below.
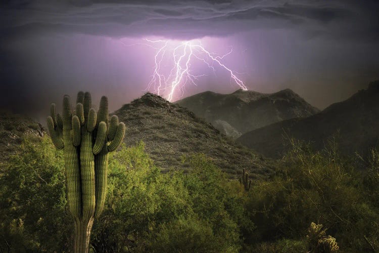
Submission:
M 145 150 L 164 170 L 185 170 L 188 164 L 181 162 L 183 155 L 204 153 L 231 177 L 242 168 L 255 177 L 271 172 L 268 161 L 221 135 L 193 112 L 157 95 L 147 93 L 114 114 L 126 125 L 126 145 L 144 141 Z

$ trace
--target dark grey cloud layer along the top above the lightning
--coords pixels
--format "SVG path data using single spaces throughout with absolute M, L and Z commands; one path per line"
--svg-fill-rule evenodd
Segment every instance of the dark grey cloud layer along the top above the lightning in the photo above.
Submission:
M 254 29 L 295 29 L 308 37 L 377 39 L 375 2 L 21 1 L 2 7 L 3 38 L 43 33 L 193 39 Z M 370 8 L 371 7 L 371 8 Z

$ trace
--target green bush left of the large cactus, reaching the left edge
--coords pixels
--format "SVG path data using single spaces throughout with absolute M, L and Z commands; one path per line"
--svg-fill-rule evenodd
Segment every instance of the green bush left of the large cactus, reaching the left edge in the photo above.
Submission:
M 0 175 L 1 251 L 71 248 L 62 152 L 51 140 L 25 140 Z M 7 245 L 8 244 L 8 245 Z

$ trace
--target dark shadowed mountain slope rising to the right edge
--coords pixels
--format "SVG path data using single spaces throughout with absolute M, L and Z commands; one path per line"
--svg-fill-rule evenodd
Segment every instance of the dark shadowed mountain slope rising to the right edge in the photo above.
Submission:
M 283 136 L 310 142 L 322 149 L 327 139 L 336 136 L 343 154 L 367 153 L 379 135 L 379 80 L 371 82 L 351 98 L 330 105 L 307 118 L 277 122 L 242 135 L 237 141 L 268 156 L 280 157 L 288 146 Z

